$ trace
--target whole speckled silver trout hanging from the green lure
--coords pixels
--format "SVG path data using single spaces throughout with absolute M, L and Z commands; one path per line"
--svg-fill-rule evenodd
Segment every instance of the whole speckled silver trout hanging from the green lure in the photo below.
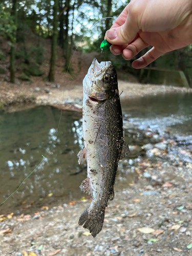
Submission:
M 92 196 L 92 202 L 78 224 L 96 237 L 103 226 L 105 207 L 114 199 L 118 162 L 129 154 L 123 138 L 117 73 L 111 61 L 99 63 L 94 58 L 83 79 L 82 130 L 84 148 L 78 153 L 78 163 L 87 160 L 88 177 L 80 188 Z

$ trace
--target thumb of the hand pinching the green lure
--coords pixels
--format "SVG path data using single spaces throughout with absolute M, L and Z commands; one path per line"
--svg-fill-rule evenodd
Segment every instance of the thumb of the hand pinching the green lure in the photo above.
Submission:
M 129 5 L 127 6 L 127 8 L 128 7 Z M 122 24 L 121 14 L 118 17 L 118 19 L 121 19 L 121 24 Z M 135 39 L 135 37 L 137 36 L 137 33 L 139 32 L 137 15 L 134 15 L 134 13 L 132 13 L 131 15 L 128 11 L 125 22 L 121 26 L 118 26 L 118 19 L 115 22 L 116 24 L 112 26 L 112 29 L 106 31 L 105 38 L 112 45 L 129 44 Z

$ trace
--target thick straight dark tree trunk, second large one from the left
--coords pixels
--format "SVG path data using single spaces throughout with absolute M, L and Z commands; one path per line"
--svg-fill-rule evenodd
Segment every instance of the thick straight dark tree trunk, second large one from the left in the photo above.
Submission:
M 53 6 L 53 36 L 52 36 L 52 45 L 51 45 L 51 60 L 50 60 L 50 71 L 49 71 L 49 81 L 54 82 L 55 80 L 55 59 L 56 59 L 56 47 L 57 47 L 57 36 L 58 36 L 58 0 L 54 1 Z

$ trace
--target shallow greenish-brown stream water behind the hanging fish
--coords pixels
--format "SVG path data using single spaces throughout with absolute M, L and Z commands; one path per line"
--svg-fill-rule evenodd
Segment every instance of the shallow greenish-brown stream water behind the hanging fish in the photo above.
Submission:
M 191 94 L 169 94 L 127 100 L 122 102 L 122 109 L 125 122 L 132 122 L 141 130 L 150 126 L 162 134 L 168 127 L 169 131 L 190 138 L 191 102 Z M 86 165 L 77 163 L 77 153 L 83 147 L 81 116 L 63 111 L 56 133 L 60 111 L 51 106 L 0 114 L 0 203 L 40 163 L 41 155 L 45 156 L 19 190 L 0 206 L 0 215 L 12 211 L 27 214 L 41 206 L 87 196 L 79 188 L 86 178 Z M 132 145 L 138 144 L 134 136 L 125 129 L 125 139 Z M 145 143 L 139 141 L 140 145 Z M 120 164 L 115 190 L 127 187 L 134 176 L 127 157 L 127 166 Z

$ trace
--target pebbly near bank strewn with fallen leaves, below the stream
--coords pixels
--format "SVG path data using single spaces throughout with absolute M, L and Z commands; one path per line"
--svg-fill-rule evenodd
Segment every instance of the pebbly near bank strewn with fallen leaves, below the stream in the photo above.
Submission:
M 137 127 L 125 120 L 124 129 Z M 121 173 L 136 175 L 126 189 L 115 190 L 96 238 L 78 226 L 90 204 L 85 196 L 30 215 L 0 216 L 1 255 L 191 255 L 192 141 L 151 129 L 136 132 L 150 143 L 131 146 L 130 158 L 121 161 Z

